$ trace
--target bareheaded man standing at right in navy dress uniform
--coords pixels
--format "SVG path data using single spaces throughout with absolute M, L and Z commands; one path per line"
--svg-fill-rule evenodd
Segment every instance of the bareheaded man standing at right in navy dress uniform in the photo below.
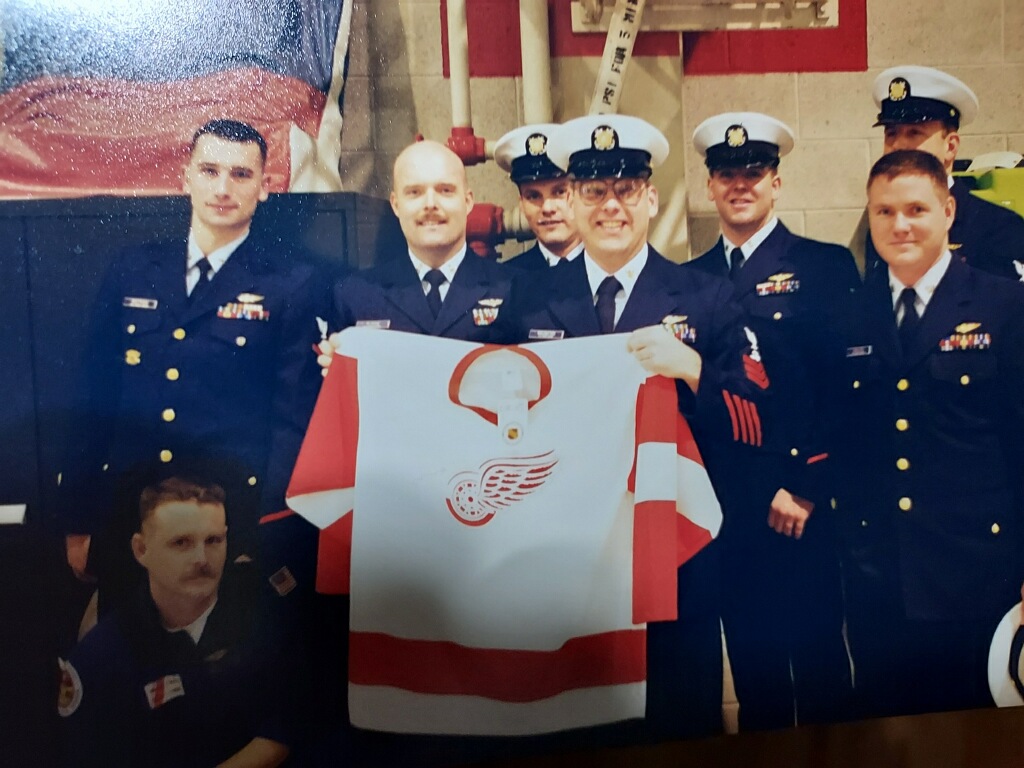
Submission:
M 946 170 L 871 169 L 883 259 L 841 313 L 837 494 L 864 716 L 991 706 L 986 658 L 1020 599 L 1024 288 L 956 258 Z

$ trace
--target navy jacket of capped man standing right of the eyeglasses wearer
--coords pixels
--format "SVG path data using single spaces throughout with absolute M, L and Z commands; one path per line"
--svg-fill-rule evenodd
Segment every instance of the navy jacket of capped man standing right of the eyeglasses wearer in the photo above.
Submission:
M 722 239 L 687 267 L 727 279 Z M 859 285 L 846 248 L 798 237 L 781 222 L 748 258 L 733 284 L 772 390 L 769 410 L 763 411 L 768 437 L 757 471 L 761 494 L 768 498 L 757 502 L 756 519 L 743 521 L 759 529 L 765 525 L 767 503 L 779 487 L 818 504 L 827 490 L 826 435 L 818 418 L 831 408 L 821 369 L 836 365 L 828 361 L 837 345 L 827 315 Z M 736 508 L 750 506 L 743 501 L 737 499 Z

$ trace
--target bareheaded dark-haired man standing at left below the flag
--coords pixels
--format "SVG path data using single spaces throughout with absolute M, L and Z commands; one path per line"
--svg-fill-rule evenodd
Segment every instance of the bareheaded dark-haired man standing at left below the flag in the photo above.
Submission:
M 130 522 L 112 519 L 128 468 L 196 455 L 231 460 L 262 489 L 265 508 L 284 507 L 319 387 L 310 346 L 328 295 L 295 253 L 250 233 L 267 198 L 265 158 L 263 137 L 245 123 L 200 128 L 184 172 L 187 238 L 130 249 L 96 299 L 62 523 L 72 568 L 106 581 L 109 592 L 120 580 L 104 580 L 106 571 L 119 571 L 131 534 Z M 230 521 L 236 551 L 252 551 L 253 512 Z M 100 541 L 90 556 L 94 534 L 108 546 Z

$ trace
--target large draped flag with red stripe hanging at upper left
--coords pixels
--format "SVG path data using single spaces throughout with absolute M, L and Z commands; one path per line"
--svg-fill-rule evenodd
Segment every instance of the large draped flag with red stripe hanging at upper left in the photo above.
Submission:
M 10 0 L 2 25 L 0 197 L 168 195 L 196 129 L 268 142 L 273 191 L 340 189 L 352 0 Z

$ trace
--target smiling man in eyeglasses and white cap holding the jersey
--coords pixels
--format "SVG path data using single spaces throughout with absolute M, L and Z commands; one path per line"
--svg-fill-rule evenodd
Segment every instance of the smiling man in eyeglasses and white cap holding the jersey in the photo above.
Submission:
M 680 411 L 715 481 L 736 446 L 762 441 L 758 403 L 767 384 L 729 284 L 647 243 L 658 204 L 649 179 L 668 153 L 657 129 L 625 115 L 579 118 L 553 132 L 548 157 L 571 179 L 584 254 L 531 287 L 520 333 L 524 340 L 629 334 L 623 343 L 645 369 L 677 380 Z M 644 738 L 721 731 L 716 558 L 707 547 L 680 568 L 679 618 L 647 628 Z

